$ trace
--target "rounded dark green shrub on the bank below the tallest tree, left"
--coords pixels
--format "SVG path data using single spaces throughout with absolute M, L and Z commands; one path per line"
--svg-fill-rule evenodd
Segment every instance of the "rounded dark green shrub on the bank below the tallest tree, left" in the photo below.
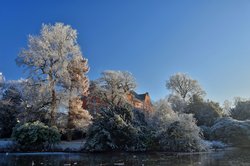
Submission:
M 12 133 L 13 140 L 26 150 L 50 148 L 60 142 L 60 137 L 56 127 L 48 127 L 39 121 L 17 125 Z

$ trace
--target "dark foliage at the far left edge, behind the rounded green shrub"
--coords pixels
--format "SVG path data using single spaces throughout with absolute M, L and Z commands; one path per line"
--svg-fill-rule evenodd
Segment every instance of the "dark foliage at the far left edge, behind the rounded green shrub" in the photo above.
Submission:
M 0 138 L 9 138 L 12 128 L 17 124 L 17 116 L 23 110 L 21 94 L 14 87 L 9 87 L 0 100 Z

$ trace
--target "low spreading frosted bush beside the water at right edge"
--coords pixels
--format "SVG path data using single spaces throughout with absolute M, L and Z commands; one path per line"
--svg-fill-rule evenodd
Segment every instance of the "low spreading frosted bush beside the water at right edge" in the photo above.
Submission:
M 249 147 L 250 121 L 222 118 L 212 126 L 210 137 L 233 146 Z

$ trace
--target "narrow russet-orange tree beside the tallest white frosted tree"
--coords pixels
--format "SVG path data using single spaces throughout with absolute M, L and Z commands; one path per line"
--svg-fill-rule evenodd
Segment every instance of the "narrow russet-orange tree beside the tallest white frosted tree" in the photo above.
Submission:
M 86 73 L 89 71 L 88 61 L 86 59 L 74 59 L 69 63 L 68 71 L 70 76 L 69 90 L 69 115 L 68 129 L 86 128 L 91 121 L 91 116 L 87 110 L 82 107 L 82 97 L 88 95 L 89 80 Z

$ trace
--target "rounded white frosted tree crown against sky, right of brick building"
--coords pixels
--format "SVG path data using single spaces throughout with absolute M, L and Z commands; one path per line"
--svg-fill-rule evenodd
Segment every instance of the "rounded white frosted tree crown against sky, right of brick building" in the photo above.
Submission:
M 205 95 L 205 91 L 201 88 L 198 81 L 184 73 L 172 75 L 169 80 L 167 80 L 166 87 L 171 90 L 174 95 L 179 95 L 186 101 L 193 95 Z

